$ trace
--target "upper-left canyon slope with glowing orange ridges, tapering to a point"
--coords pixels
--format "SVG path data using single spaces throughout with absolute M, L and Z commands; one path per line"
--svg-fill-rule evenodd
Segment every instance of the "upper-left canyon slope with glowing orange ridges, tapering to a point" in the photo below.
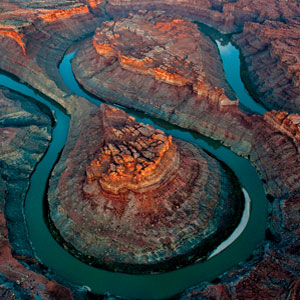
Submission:
M 1 3 L 0 68 L 72 111 L 74 97 L 61 80 L 58 64 L 66 50 L 92 33 L 103 19 L 101 3 L 91 7 L 97 3 Z

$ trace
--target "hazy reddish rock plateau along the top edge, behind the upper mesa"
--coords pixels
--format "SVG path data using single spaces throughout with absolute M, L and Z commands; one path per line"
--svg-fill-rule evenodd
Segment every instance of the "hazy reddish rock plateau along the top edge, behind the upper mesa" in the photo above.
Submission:
M 166 10 L 232 33 L 243 28 L 246 21 L 290 20 L 299 17 L 297 1 L 282 0 L 108 0 L 112 16 L 125 15 L 140 9 Z

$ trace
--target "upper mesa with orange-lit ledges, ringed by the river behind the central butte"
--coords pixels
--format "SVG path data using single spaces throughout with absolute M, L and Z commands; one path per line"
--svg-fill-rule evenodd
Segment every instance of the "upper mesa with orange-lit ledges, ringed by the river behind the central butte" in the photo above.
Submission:
M 172 113 L 189 103 L 220 110 L 238 103 L 228 98 L 234 94 L 212 41 L 161 12 L 103 23 L 77 52 L 73 71 L 93 94 L 148 113 L 150 106 Z

